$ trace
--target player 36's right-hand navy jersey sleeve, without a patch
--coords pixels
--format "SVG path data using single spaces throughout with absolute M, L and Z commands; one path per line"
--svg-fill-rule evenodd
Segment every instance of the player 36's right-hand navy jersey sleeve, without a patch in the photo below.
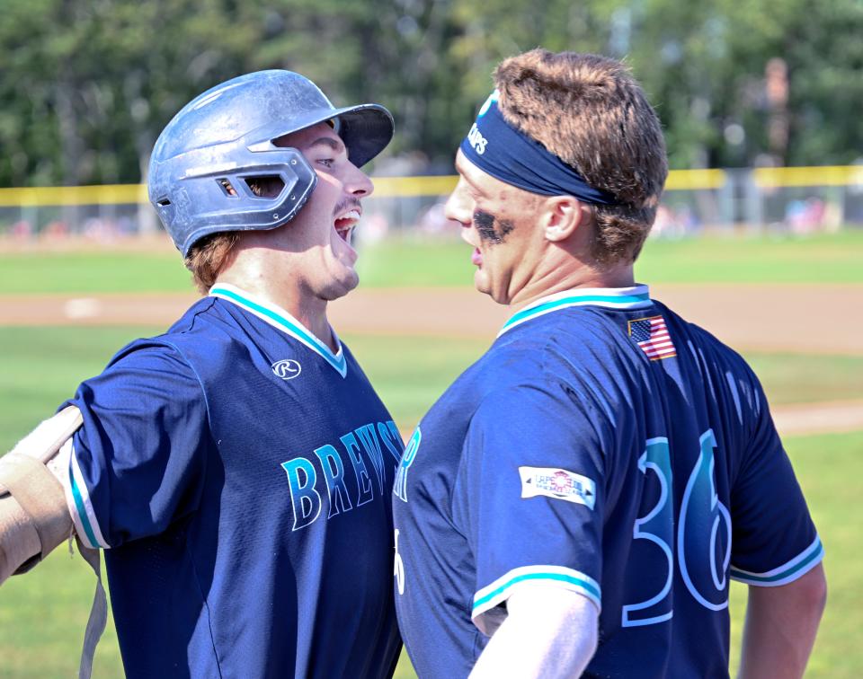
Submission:
M 823 546 L 761 385 L 752 380 L 752 434 L 731 491 L 731 577 L 779 586 L 813 569 Z

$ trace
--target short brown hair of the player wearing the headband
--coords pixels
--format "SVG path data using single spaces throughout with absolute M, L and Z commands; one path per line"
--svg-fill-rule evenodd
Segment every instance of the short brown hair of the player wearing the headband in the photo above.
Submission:
M 634 261 L 654 224 L 668 162 L 659 119 L 627 67 L 537 48 L 504 59 L 494 84 L 510 125 L 618 199 L 592 206 L 593 258 Z

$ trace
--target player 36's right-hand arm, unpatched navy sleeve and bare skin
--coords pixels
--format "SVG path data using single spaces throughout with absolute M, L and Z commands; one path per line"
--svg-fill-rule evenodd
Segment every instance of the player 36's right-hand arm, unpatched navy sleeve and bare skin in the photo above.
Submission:
M 761 384 L 750 371 L 740 387 L 752 419 L 731 507 L 731 577 L 749 586 L 740 676 L 799 677 L 826 601 L 823 546 Z

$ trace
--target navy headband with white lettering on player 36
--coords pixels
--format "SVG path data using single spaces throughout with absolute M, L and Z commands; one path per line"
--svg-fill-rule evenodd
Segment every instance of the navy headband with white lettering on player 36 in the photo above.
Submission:
M 573 196 L 585 203 L 618 205 L 617 198 L 594 189 L 573 167 L 545 146 L 513 128 L 497 108 L 495 90 L 461 143 L 467 160 L 512 186 L 543 196 Z

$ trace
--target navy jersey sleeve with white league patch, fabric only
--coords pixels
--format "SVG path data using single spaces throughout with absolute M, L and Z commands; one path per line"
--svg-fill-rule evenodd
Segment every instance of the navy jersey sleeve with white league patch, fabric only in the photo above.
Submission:
M 563 386 L 485 397 L 471 419 L 453 516 L 476 560 L 471 618 L 490 634 L 514 587 L 545 582 L 601 607 L 603 461 L 590 417 Z

